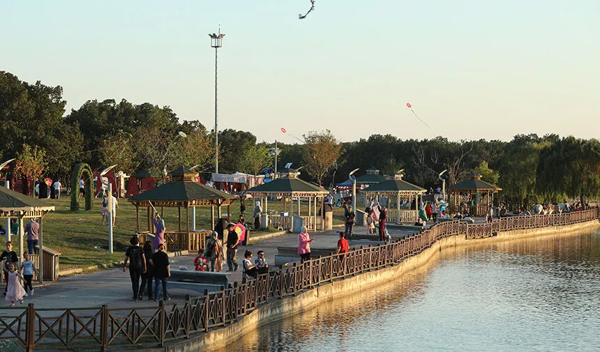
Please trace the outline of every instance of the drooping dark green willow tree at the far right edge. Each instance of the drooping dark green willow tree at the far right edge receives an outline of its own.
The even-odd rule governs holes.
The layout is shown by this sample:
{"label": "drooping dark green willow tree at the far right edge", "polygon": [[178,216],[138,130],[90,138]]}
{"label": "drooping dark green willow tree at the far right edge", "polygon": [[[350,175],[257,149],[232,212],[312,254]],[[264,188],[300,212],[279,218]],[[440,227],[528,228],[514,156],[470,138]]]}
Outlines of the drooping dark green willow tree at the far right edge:
{"label": "drooping dark green willow tree at the far right edge", "polygon": [[540,192],[579,198],[600,195],[600,141],[569,136],[543,148],[537,167]]}

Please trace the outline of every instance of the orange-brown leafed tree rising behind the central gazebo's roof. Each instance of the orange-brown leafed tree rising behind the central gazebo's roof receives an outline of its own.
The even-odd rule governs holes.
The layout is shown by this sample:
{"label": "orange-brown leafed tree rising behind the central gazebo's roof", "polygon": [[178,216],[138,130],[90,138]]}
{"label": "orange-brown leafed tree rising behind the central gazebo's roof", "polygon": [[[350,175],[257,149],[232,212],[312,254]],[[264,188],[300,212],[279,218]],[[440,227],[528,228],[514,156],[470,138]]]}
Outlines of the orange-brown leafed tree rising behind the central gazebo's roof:
{"label": "orange-brown leafed tree rising behind the central gazebo's roof", "polygon": [[304,167],[306,172],[322,185],[323,178],[342,155],[344,146],[333,137],[330,130],[311,131],[303,137],[306,142],[303,153]]}

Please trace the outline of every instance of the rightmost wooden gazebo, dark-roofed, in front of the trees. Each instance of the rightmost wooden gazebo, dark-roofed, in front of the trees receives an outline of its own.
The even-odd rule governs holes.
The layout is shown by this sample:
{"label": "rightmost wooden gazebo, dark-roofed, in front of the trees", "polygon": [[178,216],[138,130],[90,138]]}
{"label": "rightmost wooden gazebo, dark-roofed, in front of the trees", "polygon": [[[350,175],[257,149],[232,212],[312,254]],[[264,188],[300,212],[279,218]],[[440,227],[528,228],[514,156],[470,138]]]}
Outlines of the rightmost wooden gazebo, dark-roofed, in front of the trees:
{"label": "rightmost wooden gazebo, dark-roofed, in front of the trees", "polygon": [[485,216],[488,207],[493,205],[494,196],[502,188],[481,181],[481,175],[471,174],[462,182],[449,188],[450,211],[468,211],[470,215]]}

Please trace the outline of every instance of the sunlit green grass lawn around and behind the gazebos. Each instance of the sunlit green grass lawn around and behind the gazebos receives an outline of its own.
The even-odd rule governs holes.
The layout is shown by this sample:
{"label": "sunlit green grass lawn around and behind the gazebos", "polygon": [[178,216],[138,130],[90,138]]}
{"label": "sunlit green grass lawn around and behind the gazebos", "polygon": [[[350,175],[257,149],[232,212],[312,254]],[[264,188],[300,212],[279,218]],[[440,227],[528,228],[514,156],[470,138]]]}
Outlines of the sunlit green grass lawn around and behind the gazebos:
{"label": "sunlit green grass lawn around and behind the gazebos", "polygon": [[[44,217],[44,247],[61,252],[61,270],[113,263],[124,259],[125,250],[129,246],[129,239],[135,234],[135,206],[130,204],[127,199],[119,201],[117,221],[113,229],[114,254],[112,255],[108,254],[107,251],[108,227],[101,224],[100,199],[94,199],[96,203],[91,211],[70,211],[69,197],[61,197],[59,200],[45,199],[45,201],[54,205],[56,211],[50,212]],[[246,202],[248,207],[246,217],[251,217],[252,204],[250,201]],[[81,206],[84,206],[83,199],[81,199]],[[269,201],[268,208],[269,210],[281,211],[283,205],[280,201]],[[223,213],[227,212],[227,207],[221,209]],[[289,202],[286,210],[290,210]],[[231,219],[237,220],[239,217],[239,203],[232,205],[231,211]],[[185,217],[183,210],[181,213]],[[269,213],[271,212],[269,211]],[[307,204],[301,205],[301,213],[302,215],[308,215]],[[140,209],[140,230],[142,231],[145,229],[146,224],[145,215],[145,208]],[[343,224],[343,208],[336,208],[333,212],[333,218],[334,224]],[[177,208],[165,208],[164,219],[167,231],[177,228]],[[209,229],[210,221],[210,208],[196,208],[197,229]],[[185,220],[183,220],[182,227],[185,227]],[[260,236],[273,231],[276,230],[253,230],[252,236]],[[96,249],[96,246],[103,250]]]}

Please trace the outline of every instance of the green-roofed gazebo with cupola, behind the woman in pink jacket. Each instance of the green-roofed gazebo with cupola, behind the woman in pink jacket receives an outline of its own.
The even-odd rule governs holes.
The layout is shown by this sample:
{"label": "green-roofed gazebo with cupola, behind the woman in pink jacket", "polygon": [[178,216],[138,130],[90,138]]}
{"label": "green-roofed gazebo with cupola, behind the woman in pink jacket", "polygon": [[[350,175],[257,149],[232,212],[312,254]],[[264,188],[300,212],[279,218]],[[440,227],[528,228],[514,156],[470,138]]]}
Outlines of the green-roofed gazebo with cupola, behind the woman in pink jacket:
{"label": "green-roofed gazebo with cupola, behind the woman in pink jacket", "polygon": [[[317,215],[317,204],[319,206],[323,203],[323,197],[329,194],[327,190],[320,188],[317,185],[302,181],[298,178],[299,171],[294,169],[287,169],[287,172],[280,173],[280,177],[274,179],[269,183],[263,183],[250,190],[246,191],[248,194],[252,194],[253,197],[261,197],[261,202],[264,201],[262,206],[263,213],[267,213],[267,197],[283,197],[283,212],[280,216],[268,217],[267,221],[262,222],[262,227],[282,227],[283,229],[292,229],[292,231],[299,231],[298,224],[294,226],[294,217],[300,218],[302,226],[305,226],[309,230],[322,229],[323,222],[322,217]],[[290,213],[285,212],[286,198],[290,198]],[[296,214],[294,215],[294,198],[296,198]],[[308,214],[301,215],[300,204],[302,199],[308,202]],[[312,209],[311,209],[312,208]]]}

